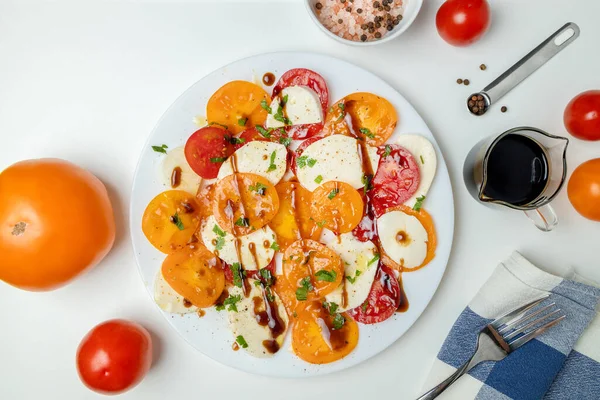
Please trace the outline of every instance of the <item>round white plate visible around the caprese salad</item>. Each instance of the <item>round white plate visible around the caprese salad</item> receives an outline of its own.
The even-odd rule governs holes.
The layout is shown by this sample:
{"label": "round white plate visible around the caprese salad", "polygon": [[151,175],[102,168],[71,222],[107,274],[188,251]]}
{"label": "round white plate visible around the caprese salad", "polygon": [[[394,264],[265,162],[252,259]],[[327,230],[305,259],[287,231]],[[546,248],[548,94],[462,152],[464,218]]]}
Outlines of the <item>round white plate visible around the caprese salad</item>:
{"label": "round white plate visible around the caprese salad", "polygon": [[[184,316],[165,313],[167,321],[193,347],[208,357],[240,370],[270,376],[302,377],[322,375],[351,367],[383,351],[417,320],[435,293],[450,255],[454,230],[452,187],[446,163],[439,152],[435,138],[419,114],[394,88],[377,76],[347,62],[312,53],[271,53],[236,61],[227,65],[185,91],[162,116],[148,142],[137,167],[131,194],[131,238],[144,285],[153,296],[154,277],[165,255],[156,250],[142,233],[142,214],[148,202],[163,190],[158,167],[161,155],[151,145],[167,144],[174,148],[185,143],[198,127],[193,119],[205,115],[209,97],[231,80],[252,80],[265,72],[277,78],[292,68],[309,68],[321,74],[329,87],[330,102],[357,91],[372,92],[388,99],[396,108],[399,124],[394,135],[416,133],[430,139],[438,156],[437,175],[424,208],[433,216],[438,248],[435,259],[425,268],[403,274],[404,289],[410,302],[406,313],[396,313],[389,320],[375,325],[360,325],[360,339],[356,349],[346,358],[325,365],[312,365],[297,358],[291,351],[288,335],[282,349],[272,358],[257,359],[244,351],[233,351],[234,341],[227,327],[226,313],[207,310],[199,318],[196,314]],[[270,90],[267,88],[267,91]],[[390,139],[394,140],[394,136]]]}

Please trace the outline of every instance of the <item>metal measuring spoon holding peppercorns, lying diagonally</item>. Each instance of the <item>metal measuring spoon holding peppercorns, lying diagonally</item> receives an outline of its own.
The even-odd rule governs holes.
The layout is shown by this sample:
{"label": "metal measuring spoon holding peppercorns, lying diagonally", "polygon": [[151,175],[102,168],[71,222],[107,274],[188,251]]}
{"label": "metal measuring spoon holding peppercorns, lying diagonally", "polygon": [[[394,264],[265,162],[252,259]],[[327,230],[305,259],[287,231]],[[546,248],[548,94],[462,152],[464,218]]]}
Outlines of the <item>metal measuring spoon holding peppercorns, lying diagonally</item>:
{"label": "metal measuring spoon holding peppercorns, lying diagonally", "polygon": [[565,24],[482,91],[470,95],[467,99],[468,110],[473,115],[485,114],[492,104],[577,39],[579,33],[577,24],[573,22]]}

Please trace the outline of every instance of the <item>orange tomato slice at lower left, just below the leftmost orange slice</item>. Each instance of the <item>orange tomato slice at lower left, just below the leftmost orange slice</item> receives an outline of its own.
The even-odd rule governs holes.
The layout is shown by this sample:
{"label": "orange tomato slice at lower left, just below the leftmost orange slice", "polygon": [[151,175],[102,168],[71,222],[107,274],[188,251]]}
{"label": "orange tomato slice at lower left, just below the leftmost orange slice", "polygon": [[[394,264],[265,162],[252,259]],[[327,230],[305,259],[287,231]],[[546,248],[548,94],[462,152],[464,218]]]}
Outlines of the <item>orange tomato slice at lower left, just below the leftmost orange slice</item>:
{"label": "orange tomato slice at lower left, just below the leftmost orange slice", "polygon": [[196,307],[214,305],[225,288],[219,258],[202,245],[190,245],[169,254],[161,272],[169,286]]}

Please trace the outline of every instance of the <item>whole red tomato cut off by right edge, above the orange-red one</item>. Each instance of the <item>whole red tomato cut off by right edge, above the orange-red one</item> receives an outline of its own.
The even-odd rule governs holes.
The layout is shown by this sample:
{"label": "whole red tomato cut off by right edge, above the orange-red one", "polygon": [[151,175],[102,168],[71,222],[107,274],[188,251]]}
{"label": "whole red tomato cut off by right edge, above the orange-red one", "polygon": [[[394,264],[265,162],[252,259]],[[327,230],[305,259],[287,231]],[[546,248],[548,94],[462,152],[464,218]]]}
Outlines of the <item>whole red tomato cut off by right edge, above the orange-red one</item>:
{"label": "whole red tomato cut off by right edge, above the orange-red one", "polygon": [[575,96],[565,108],[565,127],[578,139],[600,140],[600,90]]}

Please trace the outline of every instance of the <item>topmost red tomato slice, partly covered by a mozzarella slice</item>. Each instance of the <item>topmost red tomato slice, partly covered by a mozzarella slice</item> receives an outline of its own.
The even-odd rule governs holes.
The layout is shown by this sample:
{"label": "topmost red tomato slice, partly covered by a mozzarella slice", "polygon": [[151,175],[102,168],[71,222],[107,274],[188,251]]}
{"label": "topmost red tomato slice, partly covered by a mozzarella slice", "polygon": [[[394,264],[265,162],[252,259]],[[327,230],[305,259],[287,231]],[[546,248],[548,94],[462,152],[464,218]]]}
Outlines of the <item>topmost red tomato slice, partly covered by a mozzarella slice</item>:
{"label": "topmost red tomato slice, partly covered by a mozzarella slice", "polygon": [[[319,74],[306,68],[290,69],[279,78],[279,81],[273,87],[273,95],[275,98],[284,88],[288,86],[307,86],[315,91],[319,96],[321,107],[323,108],[323,116],[327,115],[327,106],[329,105],[329,89],[325,79]],[[306,139],[312,137],[323,129],[323,123],[294,125],[286,127],[288,135],[292,139]]]}

